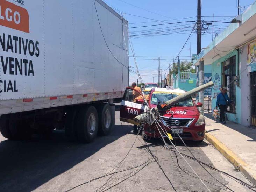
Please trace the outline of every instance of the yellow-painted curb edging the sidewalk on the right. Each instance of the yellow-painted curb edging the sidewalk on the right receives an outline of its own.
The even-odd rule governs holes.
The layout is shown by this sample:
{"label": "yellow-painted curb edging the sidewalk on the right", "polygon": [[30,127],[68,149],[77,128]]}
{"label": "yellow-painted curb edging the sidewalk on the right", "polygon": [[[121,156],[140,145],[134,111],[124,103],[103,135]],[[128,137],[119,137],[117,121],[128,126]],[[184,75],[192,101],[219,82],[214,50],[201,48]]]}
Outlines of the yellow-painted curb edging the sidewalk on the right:
{"label": "yellow-painted curb edging the sidewalk on the right", "polygon": [[205,133],[205,139],[211,143],[235,168],[241,171],[251,183],[256,186],[256,175],[250,173],[249,166],[246,162],[244,162],[239,156],[234,154],[232,150],[230,150],[226,145],[221,143],[216,137],[209,133]]}

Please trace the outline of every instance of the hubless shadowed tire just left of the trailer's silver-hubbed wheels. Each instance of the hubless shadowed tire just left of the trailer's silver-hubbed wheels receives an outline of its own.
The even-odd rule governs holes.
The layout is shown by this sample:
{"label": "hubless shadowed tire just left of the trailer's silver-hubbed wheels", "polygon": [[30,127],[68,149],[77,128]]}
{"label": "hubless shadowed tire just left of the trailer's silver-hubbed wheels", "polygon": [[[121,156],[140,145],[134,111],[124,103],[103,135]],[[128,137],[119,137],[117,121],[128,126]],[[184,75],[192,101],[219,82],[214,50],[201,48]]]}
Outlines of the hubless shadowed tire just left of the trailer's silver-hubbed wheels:
{"label": "hubless shadowed tire just left of the trailer's silver-hubbed wheels", "polygon": [[64,122],[64,129],[65,129],[65,136],[69,141],[76,141],[77,134],[75,128],[75,118],[76,118],[76,107],[69,107],[66,110],[65,114],[65,122]]}

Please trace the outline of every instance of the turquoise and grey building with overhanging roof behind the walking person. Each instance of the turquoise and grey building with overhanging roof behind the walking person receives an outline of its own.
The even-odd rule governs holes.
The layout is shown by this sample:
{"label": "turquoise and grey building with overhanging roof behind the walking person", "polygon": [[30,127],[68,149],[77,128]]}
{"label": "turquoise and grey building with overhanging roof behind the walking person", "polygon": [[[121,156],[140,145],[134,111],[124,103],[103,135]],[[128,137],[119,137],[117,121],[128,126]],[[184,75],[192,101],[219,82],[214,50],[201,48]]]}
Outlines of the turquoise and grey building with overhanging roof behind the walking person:
{"label": "turquoise and grey building with overhanging roof behind the walking person", "polygon": [[228,87],[232,100],[230,121],[256,128],[256,2],[211,42],[198,56],[212,66],[212,110],[220,88]]}

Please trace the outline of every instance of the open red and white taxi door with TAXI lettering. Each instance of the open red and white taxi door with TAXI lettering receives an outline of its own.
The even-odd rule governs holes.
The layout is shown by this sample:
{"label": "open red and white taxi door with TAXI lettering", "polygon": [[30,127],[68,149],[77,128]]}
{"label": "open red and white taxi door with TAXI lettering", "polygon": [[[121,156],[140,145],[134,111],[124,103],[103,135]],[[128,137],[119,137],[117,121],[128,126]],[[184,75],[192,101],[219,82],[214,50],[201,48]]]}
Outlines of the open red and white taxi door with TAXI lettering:
{"label": "open red and white taxi door with TAXI lettering", "polygon": [[120,106],[120,121],[138,125],[133,118],[142,114],[148,109],[144,102],[143,96],[133,98],[133,91],[138,92],[133,88],[126,88]]}

